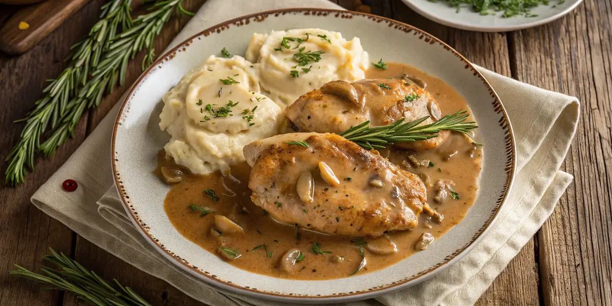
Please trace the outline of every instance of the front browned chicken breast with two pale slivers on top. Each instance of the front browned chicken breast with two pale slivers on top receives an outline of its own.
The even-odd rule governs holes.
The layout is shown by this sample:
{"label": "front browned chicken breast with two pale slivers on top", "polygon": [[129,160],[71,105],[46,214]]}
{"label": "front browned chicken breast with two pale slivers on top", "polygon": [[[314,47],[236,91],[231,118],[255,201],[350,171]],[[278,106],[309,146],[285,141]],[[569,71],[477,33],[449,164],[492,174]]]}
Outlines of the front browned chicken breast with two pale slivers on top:
{"label": "front browned chicken breast with two pale slivers on top", "polygon": [[[305,141],[307,146],[289,144]],[[293,133],[244,148],[251,200],[278,222],[321,233],[376,237],[412,230],[431,209],[425,185],[377,154],[325,133]]]}

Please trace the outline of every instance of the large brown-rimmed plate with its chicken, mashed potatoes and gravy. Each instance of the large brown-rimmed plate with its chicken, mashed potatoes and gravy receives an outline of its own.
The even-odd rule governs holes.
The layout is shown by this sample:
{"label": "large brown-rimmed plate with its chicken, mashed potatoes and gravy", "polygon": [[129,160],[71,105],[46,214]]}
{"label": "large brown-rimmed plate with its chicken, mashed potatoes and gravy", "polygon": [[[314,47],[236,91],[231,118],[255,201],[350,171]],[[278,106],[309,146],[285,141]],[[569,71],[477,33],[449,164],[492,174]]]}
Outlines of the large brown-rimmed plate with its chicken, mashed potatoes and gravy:
{"label": "large brown-rimmed plate with its chicken, mashed potatoes and gravy", "polygon": [[487,80],[419,29],[291,9],[227,21],[130,90],[113,169],[136,228],[225,289],[365,299],[465,255],[512,185]]}

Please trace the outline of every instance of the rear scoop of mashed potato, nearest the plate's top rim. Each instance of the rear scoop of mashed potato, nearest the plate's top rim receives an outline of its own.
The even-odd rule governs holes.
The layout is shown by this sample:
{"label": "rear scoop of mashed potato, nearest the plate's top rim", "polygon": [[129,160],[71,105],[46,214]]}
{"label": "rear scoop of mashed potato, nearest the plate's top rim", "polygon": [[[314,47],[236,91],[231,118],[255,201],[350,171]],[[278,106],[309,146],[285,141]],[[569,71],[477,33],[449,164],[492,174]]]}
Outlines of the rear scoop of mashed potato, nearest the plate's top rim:
{"label": "rear scoop of mashed potato, nearest the plate's top rim", "polygon": [[359,38],[323,29],[255,33],[245,58],[258,63],[259,85],[283,108],[329,81],[362,80],[369,64]]}

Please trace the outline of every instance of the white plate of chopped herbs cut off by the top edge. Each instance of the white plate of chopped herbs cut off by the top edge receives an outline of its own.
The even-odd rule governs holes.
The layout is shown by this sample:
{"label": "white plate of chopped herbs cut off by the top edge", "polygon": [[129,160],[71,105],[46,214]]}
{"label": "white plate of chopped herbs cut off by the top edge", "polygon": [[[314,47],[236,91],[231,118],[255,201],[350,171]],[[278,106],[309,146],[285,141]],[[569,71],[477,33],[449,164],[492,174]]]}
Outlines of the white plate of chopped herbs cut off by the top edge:
{"label": "white plate of chopped herbs cut off by the top edge", "polygon": [[[412,10],[431,21],[450,26],[452,28],[479,32],[506,32],[532,28],[565,16],[575,9],[583,0],[565,0],[558,4],[558,0],[550,0],[549,6],[538,6],[531,9],[537,17],[515,16],[502,18],[501,12],[496,15],[482,16],[469,7],[463,7],[459,12],[450,7],[446,1],[439,0],[401,0]],[[553,7],[556,4],[556,7]]]}

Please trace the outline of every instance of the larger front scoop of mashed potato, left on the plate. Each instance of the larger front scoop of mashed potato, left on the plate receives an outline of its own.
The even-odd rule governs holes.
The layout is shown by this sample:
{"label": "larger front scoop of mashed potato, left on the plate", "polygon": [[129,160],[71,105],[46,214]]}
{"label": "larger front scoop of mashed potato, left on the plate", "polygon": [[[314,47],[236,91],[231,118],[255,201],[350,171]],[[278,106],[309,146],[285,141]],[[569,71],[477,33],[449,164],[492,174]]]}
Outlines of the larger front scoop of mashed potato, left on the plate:
{"label": "larger front scoop of mashed potato, left on the plate", "polygon": [[211,56],[163,96],[166,154],[193,173],[243,162],[242,147],[273,136],[281,108],[259,93],[258,71],[241,56]]}

